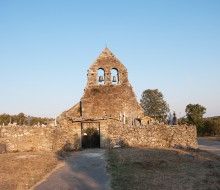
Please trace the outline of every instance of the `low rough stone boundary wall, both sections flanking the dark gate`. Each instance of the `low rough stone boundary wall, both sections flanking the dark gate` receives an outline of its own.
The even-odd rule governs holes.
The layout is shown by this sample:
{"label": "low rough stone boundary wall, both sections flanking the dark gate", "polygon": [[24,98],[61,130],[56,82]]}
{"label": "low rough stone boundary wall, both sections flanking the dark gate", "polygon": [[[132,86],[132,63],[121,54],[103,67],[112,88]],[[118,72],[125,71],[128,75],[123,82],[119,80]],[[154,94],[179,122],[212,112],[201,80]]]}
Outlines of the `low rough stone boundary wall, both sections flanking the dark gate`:
{"label": "low rough stone boundary wall, both sections flanking the dark gate", "polygon": [[[110,122],[111,123],[111,122]],[[195,126],[139,126],[101,122],[101,148],[114,145],[130,147],[198,148]],[[81,124],[66,127],[0,127],[0,153],[23,151],[78,150],[81,148]]]}

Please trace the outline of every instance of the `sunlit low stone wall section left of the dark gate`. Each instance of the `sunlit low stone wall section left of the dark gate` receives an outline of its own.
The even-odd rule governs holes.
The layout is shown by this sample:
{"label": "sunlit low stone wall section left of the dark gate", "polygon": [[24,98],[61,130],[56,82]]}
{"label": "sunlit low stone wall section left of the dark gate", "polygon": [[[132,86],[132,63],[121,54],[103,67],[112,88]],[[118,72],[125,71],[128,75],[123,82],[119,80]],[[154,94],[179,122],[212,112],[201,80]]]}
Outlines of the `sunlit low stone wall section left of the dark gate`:
{"label": "sunlit low stone wall section left of the dark gate", "polygon": [[23,151],[59,151],[80,148],[81,130],[71,127],[0,127],[0,153]]}

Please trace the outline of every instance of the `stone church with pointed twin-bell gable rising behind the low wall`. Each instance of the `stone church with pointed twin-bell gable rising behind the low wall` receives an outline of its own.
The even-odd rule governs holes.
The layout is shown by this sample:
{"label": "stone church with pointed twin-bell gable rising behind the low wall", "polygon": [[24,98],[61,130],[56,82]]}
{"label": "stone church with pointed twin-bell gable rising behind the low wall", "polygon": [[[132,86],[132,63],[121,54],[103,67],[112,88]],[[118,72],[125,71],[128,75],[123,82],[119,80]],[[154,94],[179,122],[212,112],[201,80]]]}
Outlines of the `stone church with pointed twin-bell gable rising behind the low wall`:
{"label": "stone church with pointed twin-bell gable rising behind the low wall", "polygon": [[[106,128],[113,123],[134,125],[144,112],[139,105],[126,67],[105,48],[88,70],[88,82],[79,103],[62,113],[60,125],[78,124],[83,130],[95,128],[101,147],[107,139]],[[87,135],[87,134],[86,134]]]}

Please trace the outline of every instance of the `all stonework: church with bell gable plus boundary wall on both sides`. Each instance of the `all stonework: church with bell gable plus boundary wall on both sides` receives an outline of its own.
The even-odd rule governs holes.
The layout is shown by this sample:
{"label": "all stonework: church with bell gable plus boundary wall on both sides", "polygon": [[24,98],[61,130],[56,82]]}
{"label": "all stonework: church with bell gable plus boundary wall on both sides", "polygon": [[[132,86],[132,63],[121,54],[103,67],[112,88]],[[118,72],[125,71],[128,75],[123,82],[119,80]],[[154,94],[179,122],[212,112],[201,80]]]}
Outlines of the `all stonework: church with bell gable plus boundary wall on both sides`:
{"label": "all stonework: church with bell gable plus boundary wall on both sides", "polygon": [[105,48],[88,70],[88,82],[79,103],[63,112],[56,127],[0,127],[0,153],[77,150],[83,128],[99,129],[100,147],[198,148],[195,126],[145,125],[144,115],[125,66]]}

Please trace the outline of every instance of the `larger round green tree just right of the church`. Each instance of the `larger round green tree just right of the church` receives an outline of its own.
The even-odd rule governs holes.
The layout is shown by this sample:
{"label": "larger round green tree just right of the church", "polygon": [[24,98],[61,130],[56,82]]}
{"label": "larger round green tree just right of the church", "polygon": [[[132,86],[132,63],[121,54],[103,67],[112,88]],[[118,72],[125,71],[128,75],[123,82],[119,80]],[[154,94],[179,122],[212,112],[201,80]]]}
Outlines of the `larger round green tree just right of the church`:
{"label": "larger round green tree just right of the church", "polygon": [[156,118],[159,121],[164,121],[170,111],[169,105],[158,89],[145,90],[141,95],[140,103],[145,115]]}

